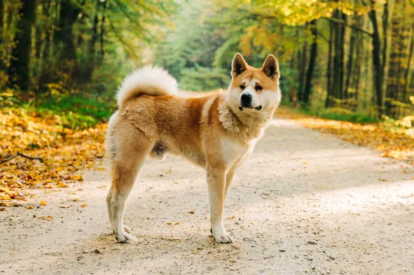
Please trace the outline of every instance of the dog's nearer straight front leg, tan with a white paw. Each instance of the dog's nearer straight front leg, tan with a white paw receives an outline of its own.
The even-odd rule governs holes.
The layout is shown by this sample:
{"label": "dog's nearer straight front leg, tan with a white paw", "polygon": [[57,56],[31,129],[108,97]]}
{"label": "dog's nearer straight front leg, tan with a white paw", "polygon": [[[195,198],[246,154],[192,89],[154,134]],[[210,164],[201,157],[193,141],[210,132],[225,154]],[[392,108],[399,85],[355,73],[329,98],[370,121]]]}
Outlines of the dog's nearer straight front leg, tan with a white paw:
{"label": "dog's nearer straight front leg, tan with a white paw", "polygon": [[233,243],[223,225],[224,200],[226,198],[226,171],[207,168],[208,197],[210,201],[211,231],[217,243]]}

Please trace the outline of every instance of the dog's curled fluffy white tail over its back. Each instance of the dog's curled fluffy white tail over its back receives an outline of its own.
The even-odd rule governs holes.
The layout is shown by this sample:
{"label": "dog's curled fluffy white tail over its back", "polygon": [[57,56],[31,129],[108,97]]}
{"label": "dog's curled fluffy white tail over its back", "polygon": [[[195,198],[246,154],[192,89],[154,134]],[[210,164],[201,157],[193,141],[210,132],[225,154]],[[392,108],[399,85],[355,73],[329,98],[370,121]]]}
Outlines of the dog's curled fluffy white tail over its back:
{"label": "dog's curled fluffy white tail over its back", "polygon": [[177,93],[177,81],[161,67],[146,65],[128,74],[117,92],[118,106],[128,99],[146,94],[162,96]]}

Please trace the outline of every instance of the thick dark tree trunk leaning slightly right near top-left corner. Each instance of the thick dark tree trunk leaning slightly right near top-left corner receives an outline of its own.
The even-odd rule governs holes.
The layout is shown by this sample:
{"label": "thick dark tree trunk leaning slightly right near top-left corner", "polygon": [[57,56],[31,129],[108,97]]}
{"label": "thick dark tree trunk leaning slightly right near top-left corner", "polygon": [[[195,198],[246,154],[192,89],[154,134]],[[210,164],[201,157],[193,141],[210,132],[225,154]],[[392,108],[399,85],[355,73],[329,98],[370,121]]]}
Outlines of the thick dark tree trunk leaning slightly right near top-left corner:
{"label": "thick dark tree trunk leaning slightly right near top-left corner", "polygon": [[32,47],[32,25],[36,10],[36,0],[23,0],[19,10],[21,19],[17,23],[14,37],[16,46],[12,50],[12,60],[8,68],[10,85],[17,85],[23,91],[30,86],[29,65]]}

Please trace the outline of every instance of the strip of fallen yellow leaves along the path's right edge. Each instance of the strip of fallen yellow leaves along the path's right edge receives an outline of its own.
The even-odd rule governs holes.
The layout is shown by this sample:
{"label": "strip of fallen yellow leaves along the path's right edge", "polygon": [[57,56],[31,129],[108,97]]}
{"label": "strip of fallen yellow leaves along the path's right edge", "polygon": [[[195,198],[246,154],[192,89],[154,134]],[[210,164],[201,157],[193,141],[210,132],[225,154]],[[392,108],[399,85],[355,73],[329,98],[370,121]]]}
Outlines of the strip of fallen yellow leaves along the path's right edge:
{"label": "strip of fallen yellow leaves along the path's right edge", "polygon": [[413,161],[414,136],[404,132],[388,131],[383,123],[359,124],[347,121],[333,121],[297,114],[286,108],[279,108],[276,116],[294,119],[306,128],[326,132],[356,145],[371,147],[381,156]]}

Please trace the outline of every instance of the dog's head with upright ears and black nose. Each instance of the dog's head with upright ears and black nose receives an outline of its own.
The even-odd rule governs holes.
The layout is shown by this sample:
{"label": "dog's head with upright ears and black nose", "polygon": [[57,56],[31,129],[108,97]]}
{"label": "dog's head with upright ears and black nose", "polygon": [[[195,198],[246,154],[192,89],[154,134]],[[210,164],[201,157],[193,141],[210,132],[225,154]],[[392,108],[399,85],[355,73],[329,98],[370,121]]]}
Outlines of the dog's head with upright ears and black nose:
{"label": "dog's head with upright ears and black nose", "polygon": [[226,99],[237,112],[258,114],[274,112],[279,105],[279,63],[272,54],[268,55],[262,68],[253,68],[246,63],[242,54],[235,54],[231,64],[232,81]]}

